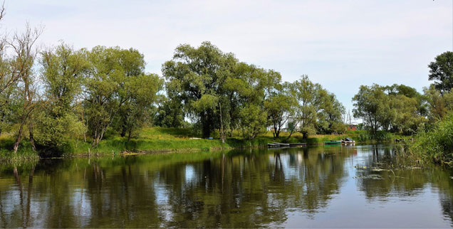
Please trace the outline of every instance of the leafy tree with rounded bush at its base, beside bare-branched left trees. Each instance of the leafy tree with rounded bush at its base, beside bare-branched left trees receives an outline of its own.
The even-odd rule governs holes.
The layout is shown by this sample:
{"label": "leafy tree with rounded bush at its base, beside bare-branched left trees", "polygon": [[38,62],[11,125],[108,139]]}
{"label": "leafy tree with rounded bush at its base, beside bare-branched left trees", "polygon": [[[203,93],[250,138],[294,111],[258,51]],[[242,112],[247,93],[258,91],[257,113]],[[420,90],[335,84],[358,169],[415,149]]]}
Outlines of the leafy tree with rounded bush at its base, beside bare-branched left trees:
{"label": "leafy tree with rounded bush at its base, beside bare-branched left trees", "polygon": [[71,137],[85,132],[80,110],[83,75],[90,67],[83,51],[61,44],[41,52],[44,101],[36,114],[36,142],[45,151],[61,149]]}

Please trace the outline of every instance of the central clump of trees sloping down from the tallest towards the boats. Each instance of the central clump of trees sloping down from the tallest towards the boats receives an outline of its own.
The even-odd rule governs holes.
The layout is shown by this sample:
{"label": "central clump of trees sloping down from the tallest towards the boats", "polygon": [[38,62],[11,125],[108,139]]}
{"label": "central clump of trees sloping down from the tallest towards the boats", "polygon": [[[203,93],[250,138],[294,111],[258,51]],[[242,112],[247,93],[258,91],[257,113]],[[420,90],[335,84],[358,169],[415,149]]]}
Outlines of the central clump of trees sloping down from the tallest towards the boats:
{"label": "central clump of trees sloping down from the tallest towards the boats", "polygon": [[287,125],[304,137],[344,129],[343,105],[307,75],[282,82],[275,70],[241,62],[209,42],[178,46],[162,74],[167,99],[157,112],[157,125],[179,127],[189,117],[202,137],[218,129],[223,141],[234,131],[253,139],[266,127],[274,137]]}

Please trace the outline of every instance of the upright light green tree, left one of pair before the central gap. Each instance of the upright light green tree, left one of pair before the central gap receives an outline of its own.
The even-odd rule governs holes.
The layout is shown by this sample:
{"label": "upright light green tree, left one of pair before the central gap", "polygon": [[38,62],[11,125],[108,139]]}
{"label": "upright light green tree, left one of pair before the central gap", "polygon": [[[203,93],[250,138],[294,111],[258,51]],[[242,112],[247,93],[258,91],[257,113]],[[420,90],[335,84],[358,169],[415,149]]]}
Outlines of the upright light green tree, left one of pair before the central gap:
{"label": "upright light green tree, left one of pair before the central gap", "polygon": [[85,54],[90,63],[83,86],[85,114],[88,129],[93,137],[93,147],[115,120],[120,108],[130,100],[136,88],[131,80],[143,74],[145,60],[134,49],[105,48],[96,46]]}

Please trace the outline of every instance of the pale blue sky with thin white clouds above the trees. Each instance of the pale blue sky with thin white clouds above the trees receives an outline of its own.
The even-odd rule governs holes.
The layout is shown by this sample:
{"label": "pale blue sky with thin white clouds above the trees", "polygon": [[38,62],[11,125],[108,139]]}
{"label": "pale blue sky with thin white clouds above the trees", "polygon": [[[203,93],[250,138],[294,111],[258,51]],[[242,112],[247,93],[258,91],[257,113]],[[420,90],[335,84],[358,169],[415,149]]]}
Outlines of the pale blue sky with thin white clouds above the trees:
{"label": "pale blue sky with thin white clouds above the trees", "polygon": [[1,29],[44,26],[43,47],[120,46],[161,66],[181,43],[210,41],[284,81],[308,75],[346,110],[360,85],[409,85],[422,92],[427,65],[453,49],[452,0],[57,1],[5,0]]}

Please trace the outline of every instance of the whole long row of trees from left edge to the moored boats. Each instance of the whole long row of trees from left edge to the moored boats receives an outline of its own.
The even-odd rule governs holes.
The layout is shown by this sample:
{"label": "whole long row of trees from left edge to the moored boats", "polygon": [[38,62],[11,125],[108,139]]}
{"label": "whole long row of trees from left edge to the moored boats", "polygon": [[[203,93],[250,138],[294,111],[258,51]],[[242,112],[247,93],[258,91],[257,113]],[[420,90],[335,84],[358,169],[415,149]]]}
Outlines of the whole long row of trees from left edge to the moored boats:
{"label": "whole long row of trees from left edge to the moored boats", "polygon": [[145,73],[133,48],[37,48],[41,33],[27,26],[0,43],[0,134],[14,133],[14,152],[24,139],[33,150],[63,150],[71,139],[98,147],[107,132],[129,141],[141,127],[187,120],[204,138],[218,130],[222,141],[269,127],[276,138],[286,126],[304,137],[345,129],[343,105],[308,76],[282,82],[209,42],[177,46],[160,77]]}

